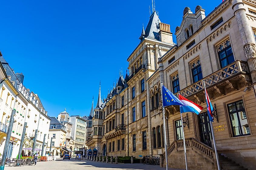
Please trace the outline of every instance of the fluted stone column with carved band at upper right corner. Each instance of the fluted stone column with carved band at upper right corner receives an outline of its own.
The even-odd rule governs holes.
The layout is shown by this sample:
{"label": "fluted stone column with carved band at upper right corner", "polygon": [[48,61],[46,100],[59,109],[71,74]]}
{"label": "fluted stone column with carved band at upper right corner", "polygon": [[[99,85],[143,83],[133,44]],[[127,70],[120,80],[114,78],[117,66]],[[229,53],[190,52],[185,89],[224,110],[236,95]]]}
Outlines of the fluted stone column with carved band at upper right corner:
{"label": "fluted stone column with carved band at upper right corner", "polygon": [[253,32],[246,18],[244,3],[242,0],[229,0],[229,2],[232,4],[232,9],[238,23],[251,79],[253,84],[256,84],[256,45]]}

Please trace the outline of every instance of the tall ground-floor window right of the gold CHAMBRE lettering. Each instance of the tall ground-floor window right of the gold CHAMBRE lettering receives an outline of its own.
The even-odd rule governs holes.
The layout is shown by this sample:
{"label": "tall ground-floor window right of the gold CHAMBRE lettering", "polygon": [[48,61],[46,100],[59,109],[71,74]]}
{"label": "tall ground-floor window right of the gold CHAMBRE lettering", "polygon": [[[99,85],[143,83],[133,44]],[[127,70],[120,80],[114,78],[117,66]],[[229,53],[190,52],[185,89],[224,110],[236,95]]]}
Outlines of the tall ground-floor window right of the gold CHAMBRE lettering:
{"label": "tall ground-floor window right of the gold CHAMBRE lettering", "polygon": [[228,104],[228,112],[230,116],[233,136],[250,135],[251,133],[248,126],[243,101],[240,100]]}

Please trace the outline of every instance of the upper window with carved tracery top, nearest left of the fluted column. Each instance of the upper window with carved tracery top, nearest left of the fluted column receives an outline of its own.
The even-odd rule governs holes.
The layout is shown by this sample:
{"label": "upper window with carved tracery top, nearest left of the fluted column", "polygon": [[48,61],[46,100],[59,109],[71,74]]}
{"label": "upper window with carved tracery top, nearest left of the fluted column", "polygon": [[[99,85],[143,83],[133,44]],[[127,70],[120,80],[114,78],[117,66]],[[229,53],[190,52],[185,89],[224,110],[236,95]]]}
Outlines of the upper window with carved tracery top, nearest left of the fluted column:
{"label": "upper window with carved tracery top, nearest left of the fluted column", "polygon": [[233,51],[231,48],[230,40],[224,41],[224,44],[218,46],[218,55],[221,63],[221,68],[228,66],[234,62]]}

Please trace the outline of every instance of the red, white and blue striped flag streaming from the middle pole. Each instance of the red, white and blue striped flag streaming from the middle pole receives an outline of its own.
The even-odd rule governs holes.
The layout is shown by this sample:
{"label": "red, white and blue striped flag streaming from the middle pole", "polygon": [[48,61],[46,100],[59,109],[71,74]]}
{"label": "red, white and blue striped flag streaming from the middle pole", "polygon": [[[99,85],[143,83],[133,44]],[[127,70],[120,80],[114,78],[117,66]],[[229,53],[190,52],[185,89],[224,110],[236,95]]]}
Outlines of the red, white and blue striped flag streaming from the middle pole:
{"label": "red, white and blue striped flag streaming from the middle pole", "polygon": [[202,107],[198,104],[195,104],[193,101],[190,101],[190,100],[186,99],[182,95],[179,95],[179,99],[185,105],[185,106],[180,107],[181,113],[194,112],[196,114],[199,114],[204,108],[204,107]]}

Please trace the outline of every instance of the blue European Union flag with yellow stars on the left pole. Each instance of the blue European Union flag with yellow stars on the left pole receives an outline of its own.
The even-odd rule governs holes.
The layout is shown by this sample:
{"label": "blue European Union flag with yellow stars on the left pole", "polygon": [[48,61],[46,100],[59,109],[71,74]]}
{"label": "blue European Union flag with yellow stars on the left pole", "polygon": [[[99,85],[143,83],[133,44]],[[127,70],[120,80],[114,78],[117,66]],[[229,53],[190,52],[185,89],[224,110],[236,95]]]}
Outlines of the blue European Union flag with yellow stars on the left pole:
{"label": "blue European Union flag with yellow stars on the left pole", "polygon": [[165,86],[162,87],[162,96],[163,96],[163,107],[170,105],[180,105],[184,106],[184,104]]}

